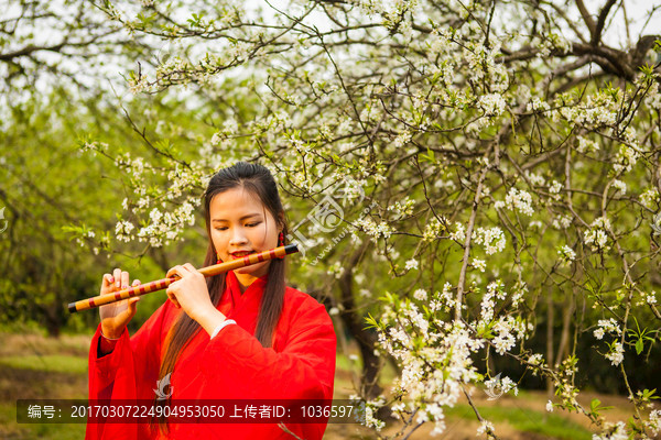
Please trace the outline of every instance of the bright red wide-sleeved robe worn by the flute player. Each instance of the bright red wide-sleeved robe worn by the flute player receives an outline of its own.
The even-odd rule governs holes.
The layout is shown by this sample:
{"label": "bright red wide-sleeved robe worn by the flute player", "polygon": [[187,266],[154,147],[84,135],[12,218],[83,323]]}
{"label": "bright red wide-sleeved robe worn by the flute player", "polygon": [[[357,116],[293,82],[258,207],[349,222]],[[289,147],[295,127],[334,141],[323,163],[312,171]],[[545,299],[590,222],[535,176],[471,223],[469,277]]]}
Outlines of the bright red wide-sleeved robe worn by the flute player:
{"label": "bright red wide-sleeved robe worn by the flute player", "polygon": [[[286,287],[272,348],[253,337],[267,276],[243,294],[234,272],[218,305],[228,324],[213,339],[202,329],[183,349],[174,372],[173,399],[332,399],[336,338],[323,305]],[[89,399],[155,397],[164,339],[183,312],[165,301],[129,338],[124,331],[112,352],[99,358],[100,324],[89,350]],[[107,343],[107,341],[104,341]],[[297,437],[321,439],[326,424],[288,425]],[[88,424],[86,440],[155,439],[147,424]],[[275,424],[170,424],[173,439],[293,439]]]}

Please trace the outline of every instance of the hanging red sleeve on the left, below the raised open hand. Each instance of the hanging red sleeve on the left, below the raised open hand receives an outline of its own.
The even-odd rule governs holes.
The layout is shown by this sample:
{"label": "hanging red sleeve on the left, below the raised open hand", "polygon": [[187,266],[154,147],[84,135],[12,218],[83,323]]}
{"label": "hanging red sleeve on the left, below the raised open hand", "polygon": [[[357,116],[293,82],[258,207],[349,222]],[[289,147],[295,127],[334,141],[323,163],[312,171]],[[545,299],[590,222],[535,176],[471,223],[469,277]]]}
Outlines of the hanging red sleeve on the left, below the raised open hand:
{"label": "hanging red sleeve on the left, below the raised open hand", "polygon": [[[161,306],[136,334],[121,334],[112,352],[99,358],[101,326],[97,328],[89,349],[89,399],[148,399],[153,391],[160,367],[161,332],[167,308]],[[86,440],[136,439],[134,424],[87,424]]]}

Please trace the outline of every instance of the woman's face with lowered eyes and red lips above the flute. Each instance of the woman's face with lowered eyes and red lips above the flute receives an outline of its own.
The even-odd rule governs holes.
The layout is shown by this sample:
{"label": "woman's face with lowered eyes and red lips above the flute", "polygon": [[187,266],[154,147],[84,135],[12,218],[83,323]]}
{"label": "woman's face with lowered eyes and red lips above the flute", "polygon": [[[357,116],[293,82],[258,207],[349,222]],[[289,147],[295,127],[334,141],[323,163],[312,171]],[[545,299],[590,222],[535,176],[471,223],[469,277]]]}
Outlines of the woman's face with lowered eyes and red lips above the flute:
{"label": "woman's face with lowered eyes and red lips above the flute", "polygon": [[[217,194],[209,206],[212,241],[224,262],[278,246],[278,227],[258,196],[243,187]],[[235,270],[242,285],[269,272],[270,261]]]}

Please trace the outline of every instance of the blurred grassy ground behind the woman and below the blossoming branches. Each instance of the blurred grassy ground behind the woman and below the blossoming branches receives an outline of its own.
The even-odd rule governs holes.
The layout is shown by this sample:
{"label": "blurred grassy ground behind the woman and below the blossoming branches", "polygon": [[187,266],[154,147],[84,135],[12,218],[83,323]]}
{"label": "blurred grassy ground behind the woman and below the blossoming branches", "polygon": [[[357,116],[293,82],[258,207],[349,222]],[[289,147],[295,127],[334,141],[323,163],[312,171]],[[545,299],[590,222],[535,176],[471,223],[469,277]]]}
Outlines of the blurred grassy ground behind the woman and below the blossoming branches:
{"label": "blurred grassy ground behind the woman and below the blossoming branches", "polygon": [[[86,398],[88,336],[63,336],[50,339],[37,333],[0,333],[0,439],[82,439],[85,425],[25,425],[15,421],[19,398]],[[338,355],[335,398],[354,394],[356,367]],[[592,439],[585,416],[545,410],[548,396],[543,392],[521,392],[518,397],[506,395],[496,400],[478,388],[473,398],[480,414],[494,422],[501,439]],[[579,402],[589,406],[593,398],[614,408],[606,413],[609,420],[626,420],[631,405],[621,396],[583,394]],[[446,430],[437,439],[476,439],[479,427],[467,402],[459,402],[446,413]],[[393,435],[401,424],[389,424],[382,431]],[[433,426],[424,424],[409,439],[427,439]],[[408,432],[408,431],[407,431]],[[370,431],[358,425],[329,424],[324,439],[372,439]],[[400,437],[402,438],[402,437]]]}

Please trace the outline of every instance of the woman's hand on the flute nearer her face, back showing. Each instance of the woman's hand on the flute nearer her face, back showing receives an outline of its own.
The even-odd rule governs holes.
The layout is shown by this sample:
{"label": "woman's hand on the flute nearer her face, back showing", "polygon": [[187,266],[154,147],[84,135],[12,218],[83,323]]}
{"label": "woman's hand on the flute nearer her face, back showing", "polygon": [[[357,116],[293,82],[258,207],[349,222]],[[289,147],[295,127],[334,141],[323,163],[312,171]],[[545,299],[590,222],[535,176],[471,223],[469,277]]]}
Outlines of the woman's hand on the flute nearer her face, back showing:
{"label": "woman's hand on the flute nearer her face, back showing", "polygon": [[175,307],[183,308],[186,315],[198,322],[205,314],[216,310],[204,275],[191,263],[167,271],[169,278],[174,275],[178,275],[180,279],[167,287],[167,296]]}

